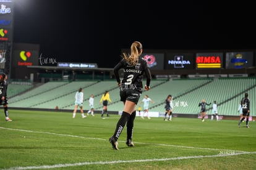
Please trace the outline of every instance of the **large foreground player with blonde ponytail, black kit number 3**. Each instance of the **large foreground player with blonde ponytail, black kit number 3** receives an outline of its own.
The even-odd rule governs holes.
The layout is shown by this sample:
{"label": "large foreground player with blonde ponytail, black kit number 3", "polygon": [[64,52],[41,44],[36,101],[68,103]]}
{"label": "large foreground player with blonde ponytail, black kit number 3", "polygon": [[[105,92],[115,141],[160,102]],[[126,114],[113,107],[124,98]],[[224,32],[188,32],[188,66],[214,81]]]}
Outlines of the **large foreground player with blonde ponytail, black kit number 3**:
{"label": "large foreground player with blonde ponytail, black kit number 3", "polygon": [[[147,83],[145,84],[145,91],[150,89],[151,73],[148,68],[148,63],[145,59],[140,57],[142,54],[142,44],[139,41],[134,41],[130,46],[130,54],[122,53],[123,59],[114,67],[114,75],[116,76],[117,85],[120,88],[120,100],[124,102],[124,110],[121,118],[116,124],[116,129],[109,142],[112,147],[118,150],[117,139],[121,135],[124,126],[127,123],[127,141],[129,147],[134,147],[132,142],[132,132],[134,127],[134,119],[136,116],[136,105],[139,102],[140,95],[143,90],[143,74],[145,73]],[[122,69],[124,78],[122,81],[119,78],[119,70]]]}

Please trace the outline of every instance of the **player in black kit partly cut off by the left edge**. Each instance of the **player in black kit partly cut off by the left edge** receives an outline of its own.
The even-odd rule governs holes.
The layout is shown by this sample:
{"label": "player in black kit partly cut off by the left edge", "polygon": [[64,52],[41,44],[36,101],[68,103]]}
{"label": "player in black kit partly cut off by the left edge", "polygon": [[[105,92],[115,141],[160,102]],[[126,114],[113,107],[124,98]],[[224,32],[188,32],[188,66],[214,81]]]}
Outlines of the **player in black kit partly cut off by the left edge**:
{"label": "player in black kit partly cut off by the left edge", "polygon": [[8,98],[7,98],[7,75],[1,73],[0,75],[0,105],[4,106],[4,115],[6,115],[6,121],[12,121],[9,118],[8,113]]}

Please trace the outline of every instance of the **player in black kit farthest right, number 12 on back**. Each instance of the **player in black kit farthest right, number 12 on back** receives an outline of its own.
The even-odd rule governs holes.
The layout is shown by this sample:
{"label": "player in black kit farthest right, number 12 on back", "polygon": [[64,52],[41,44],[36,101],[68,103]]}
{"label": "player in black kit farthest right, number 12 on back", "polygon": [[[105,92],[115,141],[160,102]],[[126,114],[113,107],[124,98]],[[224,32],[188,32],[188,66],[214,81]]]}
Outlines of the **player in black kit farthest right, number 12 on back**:
{"label": "player in black kit farthest right, number 12 on back", "polygon": [[238,126],[241,126],[242,121],[246,118],[246,127],[249,128],[249,116],[250,116],[250,99],[248,93],[245,92],[244,97],[241,100],[242,118],[239,120]]}

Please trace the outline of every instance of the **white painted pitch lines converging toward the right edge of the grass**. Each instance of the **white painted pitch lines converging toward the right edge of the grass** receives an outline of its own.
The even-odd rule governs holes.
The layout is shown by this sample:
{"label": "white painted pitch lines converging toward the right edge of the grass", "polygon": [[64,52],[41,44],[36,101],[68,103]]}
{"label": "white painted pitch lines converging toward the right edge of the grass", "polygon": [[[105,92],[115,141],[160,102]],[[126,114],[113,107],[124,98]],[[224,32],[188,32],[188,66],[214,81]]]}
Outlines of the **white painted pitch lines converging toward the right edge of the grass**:
{"label": "white painted pitch lines converging toward the right edge of the grass", "polygon": [[[56,134],[56,133],[52,133],[52,132],[28,131],[28,130],[23,130],[23,129],[12,129],[12,128],[6,128],[6,127],[0,127],[0,129],[6,129],[6,130],[11,130],[11,131],[23,131],[23,132],[50,134],[50,135],[56,135],[56,136],[78,137],[78,138],[82,138],[82,139],[106,140],[106,139],[93,138],[93,137],[82,137],[82,136],[73,136],[73,135],[67,135],[67,134]],[[147,143],[137,142],[137,144],[147,144]],[[204,150],[221,150],[221,151],[224,151],[223,149],[217,149],[217,148],[185,147],[185,146],[180,146],[180,145],[167,145],[167,144],[150,144],[150,145],[161,145],[161,146],[169,146],[169,147],[195,148],[195,149],[204,149]],[[72,163],[72,164],[68,163],[68,164],[55,164],[55,165],[42,165],[42,166],[12,167],[12,168],[5,169],[5,170],[66,168],[66,167],[72,167],[72,166],[83,166],[83,165],[92,165],[92,164],[140,163],[140,162],[152,162],[152,161],[187,160],[187,159],[195,159],[195,158],[213,158],[213,157],[225,157],[225,156],[244,155],[244,154],[256,154],[256,152],[243,152],[243,151],[237,151],[237,150],[226,150],[226,151],[234,151],[234,152],[237,152],[237,153],[232,152],[232,154],[218,154],[218,155],[204,155],[204,156],[201,156],[201,155],[198,155],[198,156],[181,156],[181,157],[177,157],[177,158],[161,158],[161,159],[156,159],[155,158],[155,159],[127,160],[127,161],[121,161],[121,160],[118,160],[118,161],[98,161],[98,162],[84,162],[84,163]]]}

